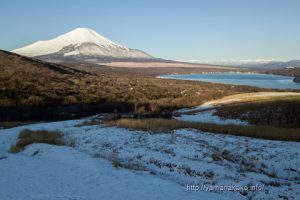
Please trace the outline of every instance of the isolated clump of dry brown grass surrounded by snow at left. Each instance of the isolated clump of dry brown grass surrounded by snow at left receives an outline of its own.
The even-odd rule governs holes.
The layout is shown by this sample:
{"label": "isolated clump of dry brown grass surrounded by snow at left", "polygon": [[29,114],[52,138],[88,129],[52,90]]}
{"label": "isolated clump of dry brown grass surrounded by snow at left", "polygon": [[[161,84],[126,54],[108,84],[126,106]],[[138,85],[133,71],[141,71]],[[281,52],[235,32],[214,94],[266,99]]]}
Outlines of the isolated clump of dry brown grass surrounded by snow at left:
{"label": "isolated clump of dry brown grass surrounded by snow at left", "polygon": [[32,131],[24,129],[20,132],[18,141],[15,145],[11,146],[10,152],[18,153],[23,151],[27,145],[33,143],[47,143],[54,145],[62,145],[61,133],[58,131],[47,131],[47,130],[37,130]]}

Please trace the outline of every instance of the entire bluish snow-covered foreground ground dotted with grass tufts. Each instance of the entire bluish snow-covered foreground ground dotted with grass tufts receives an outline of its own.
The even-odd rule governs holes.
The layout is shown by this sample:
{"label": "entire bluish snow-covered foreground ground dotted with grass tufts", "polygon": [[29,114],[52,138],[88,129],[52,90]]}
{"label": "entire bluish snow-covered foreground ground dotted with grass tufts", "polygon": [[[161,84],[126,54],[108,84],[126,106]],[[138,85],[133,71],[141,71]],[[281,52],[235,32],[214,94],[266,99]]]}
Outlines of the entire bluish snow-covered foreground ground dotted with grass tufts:
{"label": "entire bluish snow-covered foreground ground dotted with grass tufts", "polygon": [[[300,198],[297,142],[192,129],[150,134],[83,123],[89,120],[0,130],[0,199]],[[24,128],[60,130],[70,146],[33,144],[8,153]],[[261,191],[188,191],[203,185]]]}

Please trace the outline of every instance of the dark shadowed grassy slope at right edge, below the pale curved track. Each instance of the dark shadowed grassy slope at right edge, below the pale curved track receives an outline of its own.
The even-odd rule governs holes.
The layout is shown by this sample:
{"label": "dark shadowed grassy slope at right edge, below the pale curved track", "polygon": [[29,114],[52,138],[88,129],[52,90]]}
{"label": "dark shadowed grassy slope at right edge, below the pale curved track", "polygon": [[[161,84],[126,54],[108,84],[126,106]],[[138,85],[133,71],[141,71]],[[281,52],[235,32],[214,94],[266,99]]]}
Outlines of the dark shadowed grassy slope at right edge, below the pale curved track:
{"label": "dark shadowed grassy slope at right edge, below the pale curved track", "polygon": [[216,115],[239,118],[252,124],[300,128],[300,97],[289,96],[224,105]]}

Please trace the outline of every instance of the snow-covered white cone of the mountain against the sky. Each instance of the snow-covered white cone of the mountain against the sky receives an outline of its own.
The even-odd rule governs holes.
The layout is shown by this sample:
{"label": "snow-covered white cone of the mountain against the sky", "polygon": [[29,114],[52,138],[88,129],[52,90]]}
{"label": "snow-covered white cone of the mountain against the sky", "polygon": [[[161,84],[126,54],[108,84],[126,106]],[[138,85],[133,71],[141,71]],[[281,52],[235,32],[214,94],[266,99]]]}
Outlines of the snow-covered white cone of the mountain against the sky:
{"label": "snow-covered white cone of the mountain against the sky", "polygon": [[54,39],[38,41],[12,52],[47,61],[153,60],[149,54],[117,44],[96,31],[76,28]]}

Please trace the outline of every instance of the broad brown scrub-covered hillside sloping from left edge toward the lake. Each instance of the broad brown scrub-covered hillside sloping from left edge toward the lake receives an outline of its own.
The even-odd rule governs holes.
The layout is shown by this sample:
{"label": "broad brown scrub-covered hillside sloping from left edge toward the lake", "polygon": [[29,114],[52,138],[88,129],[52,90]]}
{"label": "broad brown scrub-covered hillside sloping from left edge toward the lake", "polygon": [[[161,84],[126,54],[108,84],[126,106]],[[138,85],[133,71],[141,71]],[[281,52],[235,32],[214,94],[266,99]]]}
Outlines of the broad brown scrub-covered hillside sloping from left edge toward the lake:
{"label": "broad brown scrub-covered hillside sloping from left edge toward the lake", "polygon": [[[60,115],[78,117],[74,112],[87,112],[86,115],[111,111],[159,112],[231,94],[264,91],[247,86],[163,80],[141,75],[141,71],[132,74],[132,69],[93,67],[50,64],[0,51],[0,121],[16,116],[22,120],[24,113],[29,113],[26,119],[30,120],[34,118],[31,112],[39,112],[35,115],[38,119],[54,111],[59,113],[52,119]],[[87,108],[90,104],[94,107]],[[54,107],[47,110],[49,106]]]}

